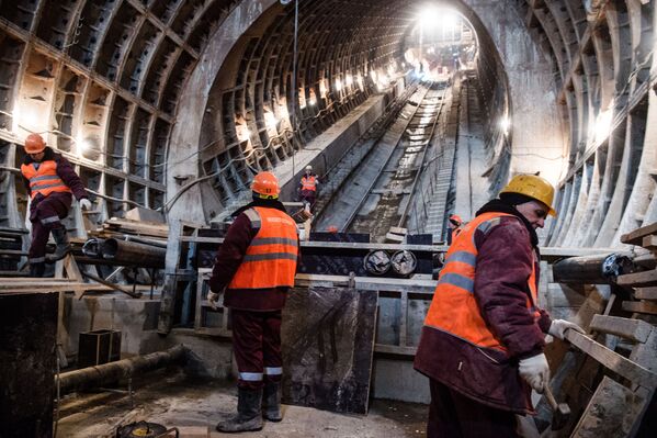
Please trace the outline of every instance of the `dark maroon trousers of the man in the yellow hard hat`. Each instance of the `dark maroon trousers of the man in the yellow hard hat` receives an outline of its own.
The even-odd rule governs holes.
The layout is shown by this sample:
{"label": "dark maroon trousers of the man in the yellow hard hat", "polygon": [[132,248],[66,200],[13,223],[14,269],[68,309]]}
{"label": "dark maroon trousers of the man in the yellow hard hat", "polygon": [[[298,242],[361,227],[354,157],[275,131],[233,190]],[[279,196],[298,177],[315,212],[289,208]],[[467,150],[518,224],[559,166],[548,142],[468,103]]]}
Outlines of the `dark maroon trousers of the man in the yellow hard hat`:
{"label": "dark maroon trousers of the man in the yellow hard hat", "polygon": [[430,379],[427,438],[520,438],[516,414],[478,403]]}

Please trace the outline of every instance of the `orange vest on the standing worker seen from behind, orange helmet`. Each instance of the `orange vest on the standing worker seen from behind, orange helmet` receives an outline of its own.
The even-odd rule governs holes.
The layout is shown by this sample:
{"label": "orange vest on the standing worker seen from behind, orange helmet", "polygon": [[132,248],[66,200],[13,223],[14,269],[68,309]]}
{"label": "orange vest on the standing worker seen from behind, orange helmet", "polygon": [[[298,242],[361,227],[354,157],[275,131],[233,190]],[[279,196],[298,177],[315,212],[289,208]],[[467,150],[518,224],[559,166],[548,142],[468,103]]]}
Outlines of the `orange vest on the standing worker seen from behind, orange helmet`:
{"label": "orange vest on the standing worker seen from behind, orange helmet", "polygon": [[253,206],[245,210],[245,214],[251,226],[260,229],[247,248],[228,289],[292,288],[298,256],[296,223],[275,209]]}

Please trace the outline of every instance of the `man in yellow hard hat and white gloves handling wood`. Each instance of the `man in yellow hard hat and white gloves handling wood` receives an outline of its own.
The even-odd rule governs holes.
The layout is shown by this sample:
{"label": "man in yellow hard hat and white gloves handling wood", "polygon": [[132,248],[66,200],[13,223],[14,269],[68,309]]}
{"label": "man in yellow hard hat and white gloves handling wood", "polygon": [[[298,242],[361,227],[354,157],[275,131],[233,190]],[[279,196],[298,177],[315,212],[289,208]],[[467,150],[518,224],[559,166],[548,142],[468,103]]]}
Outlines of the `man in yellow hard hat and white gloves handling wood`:
{"label": "man in yellow hard hat and white gloves handling wood", "polygon": [[518,437],[516,414],[533,414],[550,368],[545,334],[584,330],[537,308],[539,237],[554,188],[517,176],[485,204],[448,251],[415,368],[429,377],[427,436]]}

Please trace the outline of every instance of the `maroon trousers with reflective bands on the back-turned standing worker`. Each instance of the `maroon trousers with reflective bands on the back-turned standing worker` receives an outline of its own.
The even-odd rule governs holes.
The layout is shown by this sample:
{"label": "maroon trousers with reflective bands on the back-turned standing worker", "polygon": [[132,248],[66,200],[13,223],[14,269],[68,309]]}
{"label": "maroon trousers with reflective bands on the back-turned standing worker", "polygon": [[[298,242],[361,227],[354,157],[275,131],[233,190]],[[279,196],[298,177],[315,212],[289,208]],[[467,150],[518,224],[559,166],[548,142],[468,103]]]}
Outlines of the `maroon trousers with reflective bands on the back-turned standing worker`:
{"label": "maroon trousers with reflective bands on the back-turned standing worker", "polygon": [[230,310],[233,316],[233,349],[239,371],[237,385],[258,390],[267,382],[280,382],[283,373],[281,357],[281,311],[250,312]]}

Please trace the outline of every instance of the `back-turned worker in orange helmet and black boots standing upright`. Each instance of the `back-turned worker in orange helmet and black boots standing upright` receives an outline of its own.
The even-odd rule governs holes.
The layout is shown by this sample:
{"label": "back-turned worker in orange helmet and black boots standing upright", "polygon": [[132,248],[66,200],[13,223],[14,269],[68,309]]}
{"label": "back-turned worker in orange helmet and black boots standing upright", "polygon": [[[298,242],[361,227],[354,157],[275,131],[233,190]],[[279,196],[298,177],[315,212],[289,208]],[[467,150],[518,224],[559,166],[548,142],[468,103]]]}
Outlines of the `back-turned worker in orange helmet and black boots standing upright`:
{"label": "back-turned worker in orange helmet and black boots standing upright", "polygon": [[262,416],[282,419],[281,314],[287,290],[294,285],[298,235],[296,223],[279,201],[273,173],[258,173],[251,191],[253,202],[237,212],[226,232],[207,295],[215,306],[225,290],[239,371],[237,415],[217,425],[224,433],[260,430]]}

